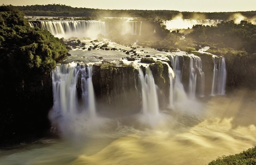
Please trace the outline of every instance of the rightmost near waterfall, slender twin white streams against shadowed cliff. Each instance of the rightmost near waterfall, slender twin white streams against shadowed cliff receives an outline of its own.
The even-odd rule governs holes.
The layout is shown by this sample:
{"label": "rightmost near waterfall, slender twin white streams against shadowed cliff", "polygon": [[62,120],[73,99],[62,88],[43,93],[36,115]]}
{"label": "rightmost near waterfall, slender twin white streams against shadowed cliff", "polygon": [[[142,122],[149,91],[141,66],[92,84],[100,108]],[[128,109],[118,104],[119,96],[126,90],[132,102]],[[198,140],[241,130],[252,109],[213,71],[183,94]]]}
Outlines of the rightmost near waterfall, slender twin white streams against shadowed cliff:
{"label": "rightmost near waterfall, slender twin white streams against shadowed cliff", "polygon": [[225,58],[221,57],[219,60],[219,67],[217,69],[216,58],[213,60],[214,69],[213,69],[213,77],[212,77],[212,92],[211,95],[225,95],[226,89],[226,63]]}

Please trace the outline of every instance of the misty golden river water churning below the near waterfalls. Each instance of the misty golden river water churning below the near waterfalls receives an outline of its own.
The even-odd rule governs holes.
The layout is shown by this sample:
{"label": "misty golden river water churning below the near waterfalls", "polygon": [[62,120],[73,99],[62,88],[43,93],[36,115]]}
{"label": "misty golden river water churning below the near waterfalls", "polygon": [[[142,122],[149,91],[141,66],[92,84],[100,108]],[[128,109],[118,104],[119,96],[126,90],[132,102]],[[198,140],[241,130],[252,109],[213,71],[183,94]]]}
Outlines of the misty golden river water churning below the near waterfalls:
{"label": "misty golden river water churning below the near waterfalls", "polygon": [[160,110],[155,120],[82,120],[72,126],[80,131],[63,132],[63,140],[2,149],[0,164],[205,164],[256,145],[255,106],[255,97],[240,92]]}

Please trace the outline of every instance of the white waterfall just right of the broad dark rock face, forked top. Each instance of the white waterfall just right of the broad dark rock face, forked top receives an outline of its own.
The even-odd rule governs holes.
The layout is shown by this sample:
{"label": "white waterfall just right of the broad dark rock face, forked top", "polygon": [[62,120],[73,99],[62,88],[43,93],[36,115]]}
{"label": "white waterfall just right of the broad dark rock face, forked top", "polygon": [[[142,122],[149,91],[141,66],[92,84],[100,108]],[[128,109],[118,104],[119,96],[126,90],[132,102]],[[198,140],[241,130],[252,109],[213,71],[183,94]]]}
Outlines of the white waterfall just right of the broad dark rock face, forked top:
{"label": "white waterfall just right of the broad dark rock face, forked top", "polygon": [[142,97],[142,113],[154,114],[159,113],[158,97],[156,93],[156,85],[149,66],[146,66],[146,74],[139,68],[139,79]]}

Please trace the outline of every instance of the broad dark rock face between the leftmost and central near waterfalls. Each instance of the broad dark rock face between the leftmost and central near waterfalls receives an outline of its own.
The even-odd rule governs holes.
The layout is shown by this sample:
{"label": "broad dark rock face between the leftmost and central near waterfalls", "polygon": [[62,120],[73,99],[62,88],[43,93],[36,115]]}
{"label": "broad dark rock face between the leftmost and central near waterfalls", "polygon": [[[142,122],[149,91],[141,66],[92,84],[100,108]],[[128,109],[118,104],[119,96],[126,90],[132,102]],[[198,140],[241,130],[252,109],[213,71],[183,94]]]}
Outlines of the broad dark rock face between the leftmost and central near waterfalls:
{"label": "broad dark rock face between the leftmost and central near waterfalls", "polygon": [[136,88],[139,85],[138,70],[132,65],[95,64],[92,83],[100,109],[139,109],[140,97]]}

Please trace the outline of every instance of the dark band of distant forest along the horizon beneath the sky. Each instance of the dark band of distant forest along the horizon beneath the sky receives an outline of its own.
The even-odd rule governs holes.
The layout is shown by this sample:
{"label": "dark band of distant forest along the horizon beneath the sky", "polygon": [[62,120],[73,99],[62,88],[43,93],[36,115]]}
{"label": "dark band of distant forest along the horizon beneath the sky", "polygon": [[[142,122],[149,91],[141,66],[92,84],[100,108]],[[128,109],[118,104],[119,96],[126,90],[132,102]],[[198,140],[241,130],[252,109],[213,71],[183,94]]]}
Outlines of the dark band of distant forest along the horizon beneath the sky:
{"label": "dark band of distant forest along the horizon beneath the sky", "polygon": [[[20,11],[28,16],[66,16],[66,17],[142,17],[142,18],[156,18],[167,20],[172,19],[179,13],[183,15],[184,19],[201,18],[201,19],[222,19],[227,20],[235,12],[180,12],[172,10],[102,10],[90,8],[73,8],[71,6],[61,4],[47,4],[47,5],[27,5],[17,6]],[[245,17],[253,17],[256,11],[240,12]]]}

